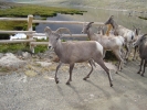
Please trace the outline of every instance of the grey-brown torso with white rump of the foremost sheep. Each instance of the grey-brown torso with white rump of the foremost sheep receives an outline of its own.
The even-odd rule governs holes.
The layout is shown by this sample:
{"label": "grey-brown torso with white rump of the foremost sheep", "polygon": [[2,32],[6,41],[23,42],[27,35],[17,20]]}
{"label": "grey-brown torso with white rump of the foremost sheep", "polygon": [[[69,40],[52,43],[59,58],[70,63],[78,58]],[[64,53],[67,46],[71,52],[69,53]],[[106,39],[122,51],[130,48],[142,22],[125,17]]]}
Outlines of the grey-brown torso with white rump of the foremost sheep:
{"label": "grey-brown torso with white rump of the foremost sheep", "polygon": [[62,43],[63,63],[81,63],[103,55],[103,46],[96,41],[78,41]]}

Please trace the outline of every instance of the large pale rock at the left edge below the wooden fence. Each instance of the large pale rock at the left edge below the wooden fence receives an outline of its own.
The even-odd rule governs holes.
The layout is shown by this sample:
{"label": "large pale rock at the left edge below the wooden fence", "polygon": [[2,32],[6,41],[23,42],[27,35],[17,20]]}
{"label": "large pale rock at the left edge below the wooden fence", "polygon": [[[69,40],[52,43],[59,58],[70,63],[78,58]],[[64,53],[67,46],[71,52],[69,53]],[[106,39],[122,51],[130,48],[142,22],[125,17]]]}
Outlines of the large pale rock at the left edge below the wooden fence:
{"label": "large pale rock at the left edge below the wooden fence", "polygon": [[23,67],[25,64],[25,61],[17,58],[17,56],[14,56],[11,53],[7,53],[4,56],[0,58],[0,67],[7,69],[18,69],[20,67]]}

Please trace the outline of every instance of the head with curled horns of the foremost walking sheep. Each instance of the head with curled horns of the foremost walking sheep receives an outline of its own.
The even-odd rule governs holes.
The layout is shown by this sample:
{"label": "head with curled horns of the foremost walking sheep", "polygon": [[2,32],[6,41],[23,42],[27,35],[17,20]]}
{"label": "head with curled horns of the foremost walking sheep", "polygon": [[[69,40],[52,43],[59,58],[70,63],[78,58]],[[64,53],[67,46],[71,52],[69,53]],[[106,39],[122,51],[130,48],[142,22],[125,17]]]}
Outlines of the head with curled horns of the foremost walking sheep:
{"label": "head with curled horns of the foremost walking sheep", "polygon": [[66,28],[59,28],[56,31],[52,31],[49,26],[46,26],[44,29],[44,32],[45,32],[46,36],[49,37],[49,47],[50,48],[56,47],[56,43],[59,42],[62,33],[67,32],[72,36],[70,30]]}

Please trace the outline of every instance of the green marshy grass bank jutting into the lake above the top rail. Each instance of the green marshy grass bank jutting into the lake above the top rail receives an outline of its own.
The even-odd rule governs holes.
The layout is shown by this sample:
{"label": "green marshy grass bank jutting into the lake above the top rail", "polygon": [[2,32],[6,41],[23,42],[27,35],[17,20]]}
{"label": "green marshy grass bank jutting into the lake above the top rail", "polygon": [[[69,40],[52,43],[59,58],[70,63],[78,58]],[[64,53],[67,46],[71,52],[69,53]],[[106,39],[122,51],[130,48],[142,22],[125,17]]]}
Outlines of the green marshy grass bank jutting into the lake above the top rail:
{"label": "green marshy grass bank jutting into the lake above the top rail", "polygon": [[83,11],[67,8],[44,7],[36,4],[18,4],[11,6],[6,10],[0,10],[0,16],[20,16],[27,18],[28,14],[40,16],[54,16],[56,13],[82,14]]}

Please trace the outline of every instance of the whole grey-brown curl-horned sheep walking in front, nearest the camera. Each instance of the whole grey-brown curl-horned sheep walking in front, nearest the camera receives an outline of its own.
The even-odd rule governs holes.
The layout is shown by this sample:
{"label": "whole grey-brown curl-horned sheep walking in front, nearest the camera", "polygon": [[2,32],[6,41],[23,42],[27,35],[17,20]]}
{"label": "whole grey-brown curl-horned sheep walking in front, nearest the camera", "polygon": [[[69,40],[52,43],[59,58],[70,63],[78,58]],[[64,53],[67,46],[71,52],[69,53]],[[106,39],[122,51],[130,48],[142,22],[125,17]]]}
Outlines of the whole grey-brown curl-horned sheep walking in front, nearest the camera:
{"label": "whole grey-brown curl-horned sheep walking in front, nearest the camera", "polygon": [[55,32],[52,31],[49,26],[44,29],[44,32],[46,36],[49,37],[49,43],[51,44],[51,47],[54,48],[54,52],[60,58],[60,64],[56,67],[55,72],[55,82],[59,82],[57,78],[57,70],[61,67],[62,63],[70,64],[70,78],[66,82],[66,85],[70,85],[70,81],[72,81],[72,70],[75,63],[82,63],[88,61],[90,65],[92,66],[92,69],[90,74],[83,78],[86,80],[90,78],[91,73],[93,72],[93,61],[96,62],[108,75],[109,85],[112,84],[112,76],[109,73],[109,69],[105,66],[103,61],[103,46],[95,41],[78,41],[78,42],[61,42],[61,33],[62,32],[70,32],[69,29],[60,28]]}

